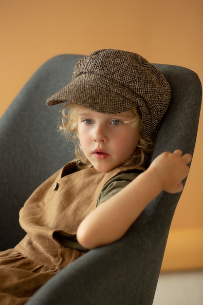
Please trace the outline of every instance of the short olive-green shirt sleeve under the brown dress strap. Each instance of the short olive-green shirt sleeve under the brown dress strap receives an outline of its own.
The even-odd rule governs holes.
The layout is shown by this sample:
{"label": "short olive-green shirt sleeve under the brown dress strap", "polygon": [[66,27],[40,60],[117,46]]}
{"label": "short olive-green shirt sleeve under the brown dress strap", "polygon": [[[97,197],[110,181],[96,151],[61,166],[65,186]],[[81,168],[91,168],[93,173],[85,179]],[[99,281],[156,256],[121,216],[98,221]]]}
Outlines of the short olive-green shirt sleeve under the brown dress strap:
{"label": "short olive-green shirt sleeve under the brown dress strap", "polygon": [[99,193],[97,206],[107,199],[111,198],[118,191],[121,191],[127,186],[133,179],[135,179],[140,172],[122,172],[117,176],[111,178],[102,188]]}

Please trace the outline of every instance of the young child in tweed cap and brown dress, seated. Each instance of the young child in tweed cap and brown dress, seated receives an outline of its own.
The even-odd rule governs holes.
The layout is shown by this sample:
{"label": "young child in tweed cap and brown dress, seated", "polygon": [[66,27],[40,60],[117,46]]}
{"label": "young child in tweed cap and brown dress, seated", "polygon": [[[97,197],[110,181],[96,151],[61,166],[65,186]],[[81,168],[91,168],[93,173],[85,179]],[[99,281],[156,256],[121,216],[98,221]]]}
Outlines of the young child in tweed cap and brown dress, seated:
{"label": "young child in tweed cap and brown dress, seated", "polygon": [[0,304],[24,304],[89,249],[122,237],[161,191],[183,190],[190,154],[164,152],[148,166],[169,101],[166,78],[137,54],[105,49],[78,61],[72,82],[47,100],[67,103],[60,129],[76,158],[20,210],[27,234],[0,253]]}

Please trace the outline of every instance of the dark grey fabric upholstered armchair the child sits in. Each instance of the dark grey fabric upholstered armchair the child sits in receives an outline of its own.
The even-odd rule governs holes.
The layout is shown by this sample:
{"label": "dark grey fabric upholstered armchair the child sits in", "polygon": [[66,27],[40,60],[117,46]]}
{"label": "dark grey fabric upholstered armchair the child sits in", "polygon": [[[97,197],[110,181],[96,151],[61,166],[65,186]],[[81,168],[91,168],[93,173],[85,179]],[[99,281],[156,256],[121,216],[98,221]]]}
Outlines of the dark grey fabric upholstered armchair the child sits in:
{"label": "dark grey fabric upholstered armchair the child sits in", "polygon": [[[18,211],[28,196],[74,156],[57,132],[59,110],[46,99],[70,80],[82,56],[48,60],[20,91],[0,120],[0,250],[24,236]],[[202,89],[198,76],[179,66],[155,64],[166,76],[172,98],[157,135],[152,159],[164,151],[194,151]],[[151,305],[171,220],[181,193],[162,192],[128,232],[93,249],[41,287],[27,305]]]}

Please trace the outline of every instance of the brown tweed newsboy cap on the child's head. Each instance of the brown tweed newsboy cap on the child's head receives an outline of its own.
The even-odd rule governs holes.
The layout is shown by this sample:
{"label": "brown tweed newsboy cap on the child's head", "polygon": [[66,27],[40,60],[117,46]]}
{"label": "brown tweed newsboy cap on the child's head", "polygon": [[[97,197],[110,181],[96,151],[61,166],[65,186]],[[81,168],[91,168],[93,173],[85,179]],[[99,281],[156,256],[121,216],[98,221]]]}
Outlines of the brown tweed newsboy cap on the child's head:
{"label": "brown tweed newsboy cap on the child's head", "polygon": [[156,136],[171,97],[165,76],[145,58],[132,52],[102,49],[80,59],[72,81],[46,104],[73,102],[104,114],[137,108],[141,136]]}

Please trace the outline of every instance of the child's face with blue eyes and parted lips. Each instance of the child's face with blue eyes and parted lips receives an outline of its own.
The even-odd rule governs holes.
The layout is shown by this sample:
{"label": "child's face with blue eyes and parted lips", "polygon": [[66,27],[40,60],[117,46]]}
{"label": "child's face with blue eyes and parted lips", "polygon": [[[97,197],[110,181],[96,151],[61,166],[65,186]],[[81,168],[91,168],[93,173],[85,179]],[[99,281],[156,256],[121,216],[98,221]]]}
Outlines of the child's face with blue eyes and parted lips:
{"label": "child's face with blue eyes and parted lips", "polygon": [[99,172],[109,172],[126,161],[138,144],[137,128],[130,120],[133,114],[102,114],[88,108],[78,109],[80,145],[92,166]]}

